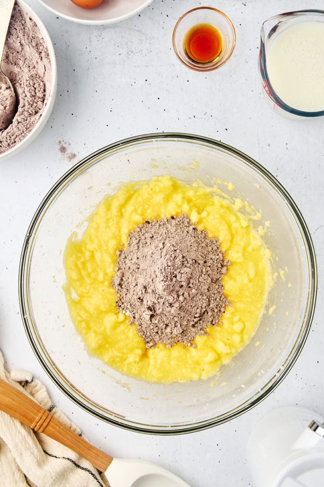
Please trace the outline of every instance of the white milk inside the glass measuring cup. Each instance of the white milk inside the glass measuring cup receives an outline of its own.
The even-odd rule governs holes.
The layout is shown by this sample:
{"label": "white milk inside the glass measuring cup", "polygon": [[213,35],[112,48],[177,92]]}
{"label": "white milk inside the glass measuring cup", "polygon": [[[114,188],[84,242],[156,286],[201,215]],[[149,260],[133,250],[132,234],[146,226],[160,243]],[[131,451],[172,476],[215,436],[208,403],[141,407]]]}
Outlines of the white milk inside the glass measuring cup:
{"label": "white milk inside the glass measuring cup", "polygon": [[303,112],[324,110],[324,22],[300,22],[273,36],[266,69],[286,105]]}

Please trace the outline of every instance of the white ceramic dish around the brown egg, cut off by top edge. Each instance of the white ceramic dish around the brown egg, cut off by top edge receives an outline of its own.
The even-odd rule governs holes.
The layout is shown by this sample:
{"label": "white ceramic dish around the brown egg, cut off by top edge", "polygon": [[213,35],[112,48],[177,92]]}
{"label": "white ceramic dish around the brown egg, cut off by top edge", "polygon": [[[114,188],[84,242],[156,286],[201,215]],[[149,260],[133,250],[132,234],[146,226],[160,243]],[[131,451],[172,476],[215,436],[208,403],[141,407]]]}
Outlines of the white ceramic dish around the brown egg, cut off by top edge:
{"label": "white ceramic dish around the brown egg, cut off by top edge", "polygon": [[72,22],[80,24],[112,24],[141,12],[153,0],[103,0],[94,9],[83,9],[71,0],[38,0],[44,7]]}

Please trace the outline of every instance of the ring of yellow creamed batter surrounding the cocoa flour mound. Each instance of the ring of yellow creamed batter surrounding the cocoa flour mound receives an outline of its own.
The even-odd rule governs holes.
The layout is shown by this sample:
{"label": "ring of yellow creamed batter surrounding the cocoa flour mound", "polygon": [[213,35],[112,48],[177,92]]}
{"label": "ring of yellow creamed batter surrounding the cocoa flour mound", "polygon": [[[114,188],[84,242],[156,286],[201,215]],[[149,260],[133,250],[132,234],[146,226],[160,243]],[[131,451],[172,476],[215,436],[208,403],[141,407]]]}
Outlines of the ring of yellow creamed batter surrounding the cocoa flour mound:
{"label": "ring of yellow creamed batter surrounding the cocoa flour mound", "polygon": [[[271,283],[270,252],[238,206],[216,188],[168,176],[127,183],[105,196],[82,238],[71,235],[64,253],[67,303],[89,353],[126,375],[165,383],[207,379],[229,362],[256,331]],[[195,338],[195,347],[177,343],[146,349],[136,326],[116,310],[111,287],[116,251],[143,221],[181,213],[209,237],[219,238],[231,262],[223,277],[231,305],[222,326],[208,327],[207,335]]]}

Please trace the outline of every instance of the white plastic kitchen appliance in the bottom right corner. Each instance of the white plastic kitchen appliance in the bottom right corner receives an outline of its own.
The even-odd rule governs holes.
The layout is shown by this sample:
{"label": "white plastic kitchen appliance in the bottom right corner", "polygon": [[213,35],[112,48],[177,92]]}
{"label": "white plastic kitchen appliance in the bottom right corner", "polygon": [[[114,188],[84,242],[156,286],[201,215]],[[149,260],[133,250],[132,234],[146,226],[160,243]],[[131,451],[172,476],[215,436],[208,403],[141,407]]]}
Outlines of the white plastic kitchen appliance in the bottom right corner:
{"label": "white plastic kitchen appliance in the bottom right corner", "polygon": [[247,448],[256,487],[323,487],[324,418],[297,406],[272,410]]}

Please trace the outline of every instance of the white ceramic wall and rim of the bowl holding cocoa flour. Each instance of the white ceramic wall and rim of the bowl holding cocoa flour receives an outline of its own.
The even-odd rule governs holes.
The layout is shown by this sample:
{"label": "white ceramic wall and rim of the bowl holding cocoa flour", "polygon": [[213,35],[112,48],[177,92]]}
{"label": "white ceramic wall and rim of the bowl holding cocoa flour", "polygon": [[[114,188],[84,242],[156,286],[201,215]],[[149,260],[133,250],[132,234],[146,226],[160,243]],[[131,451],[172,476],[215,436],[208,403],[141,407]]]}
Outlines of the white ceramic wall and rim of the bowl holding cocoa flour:
{"label": "white ceramic wall and rim of the bowl holding cocoa flour", "polygon": [[46,122],[48,121],[52,109],[54,107],[54,102],[55,102],[55,97],[56,97],[56,89],[57,89],[57,67],[56,67],[56,58],[55,58],[55,51],[54,47],[50,38],[50,34],[47,31],[47,28],[43,24],[42,20],[38,17],[38,15],[35,14],[35,12],[29,7],[29,5],[24,2],[24,0],[16,0],[17,5],[26,12],[33,20],[36,22],[39,31],[41,32],[45,44],[48,48],[49,55],[50,55],[50,60],[51,60],[51,68],[52,68],[52,82],[51,82],[51,88],[50,92],[47,98],[47,102],[44,108],[44,111],[42,113],[41,118],[38,120],[34,128],[26,135],[26,137],[20,141],[18,144],[16,144],[14,147],[9,149],[6,152],[3,152],[0,154],[0,160],[5,159],[6,157],[12,156],[14,154],[17,154],[21,150],[25,149],[36,137],[41,133],[43,128],[46,125]]}

